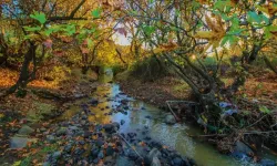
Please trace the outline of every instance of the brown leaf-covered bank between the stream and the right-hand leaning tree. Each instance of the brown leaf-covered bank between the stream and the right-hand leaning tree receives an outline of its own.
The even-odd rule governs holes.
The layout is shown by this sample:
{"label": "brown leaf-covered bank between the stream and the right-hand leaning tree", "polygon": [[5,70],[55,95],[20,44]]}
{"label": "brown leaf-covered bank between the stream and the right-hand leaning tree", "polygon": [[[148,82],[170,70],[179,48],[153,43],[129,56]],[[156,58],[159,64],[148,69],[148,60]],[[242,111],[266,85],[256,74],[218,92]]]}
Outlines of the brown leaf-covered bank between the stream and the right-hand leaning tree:
{"label": "brown leaf-covered bank between the stream and the right-hand leaning tree", "polygon": [[187,100],[191,96],[186,83],[173,76],[154,82],[142,82],[133,77],[116,79],[116,82],[121,85],[121,90],[130,96],[161,107],[166,106],[166,101]]}

